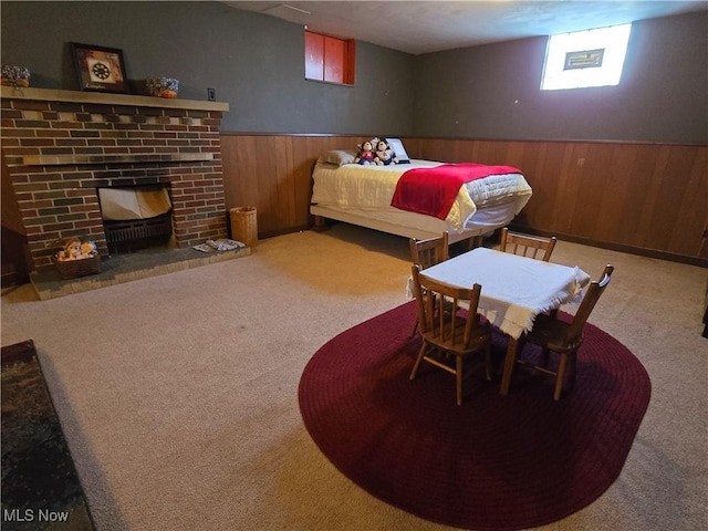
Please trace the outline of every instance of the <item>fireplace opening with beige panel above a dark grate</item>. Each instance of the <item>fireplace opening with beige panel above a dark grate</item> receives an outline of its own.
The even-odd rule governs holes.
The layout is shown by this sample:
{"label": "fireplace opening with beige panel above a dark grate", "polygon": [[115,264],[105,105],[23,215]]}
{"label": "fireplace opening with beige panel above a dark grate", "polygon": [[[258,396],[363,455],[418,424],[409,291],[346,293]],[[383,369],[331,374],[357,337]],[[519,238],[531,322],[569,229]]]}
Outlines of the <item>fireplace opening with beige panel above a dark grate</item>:
{"label": "fireplace opening with beige panel above a dark grate", "polygon": [[167,243],[171,202],[164,186],[98,188],[108,252],[133,252]]}

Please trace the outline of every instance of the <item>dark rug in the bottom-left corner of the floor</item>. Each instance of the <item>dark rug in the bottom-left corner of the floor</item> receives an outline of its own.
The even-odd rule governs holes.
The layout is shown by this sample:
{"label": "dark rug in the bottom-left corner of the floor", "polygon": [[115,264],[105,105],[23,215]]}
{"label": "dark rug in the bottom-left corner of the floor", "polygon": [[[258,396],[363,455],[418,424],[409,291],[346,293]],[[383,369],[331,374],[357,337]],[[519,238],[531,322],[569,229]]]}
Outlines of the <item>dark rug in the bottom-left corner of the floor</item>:
{"label": "dark rug in the bottom-left corner of the floor", "polygon": [[32,341],[1,350],[2,530],[93,530]]}

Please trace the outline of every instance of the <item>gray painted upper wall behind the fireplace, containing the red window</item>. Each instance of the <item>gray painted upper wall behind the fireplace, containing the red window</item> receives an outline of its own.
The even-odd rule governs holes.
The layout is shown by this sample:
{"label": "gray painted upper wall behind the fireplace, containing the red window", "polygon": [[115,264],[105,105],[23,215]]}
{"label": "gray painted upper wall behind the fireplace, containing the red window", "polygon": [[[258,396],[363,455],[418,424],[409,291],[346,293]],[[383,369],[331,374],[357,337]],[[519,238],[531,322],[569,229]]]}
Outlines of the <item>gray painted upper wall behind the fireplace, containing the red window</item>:
{"label": "gray painted upper wall behind the fireplace, containing the red window", "polygon": [[179,80],[179,97],[228,102],[222,131],[407,135],[413,55],[356,43],[356,83],[305,81],[303,28],[218,2],[2,1],[2,64],[31,85],[77,90],[71,41],[123,50],[133,93]]}

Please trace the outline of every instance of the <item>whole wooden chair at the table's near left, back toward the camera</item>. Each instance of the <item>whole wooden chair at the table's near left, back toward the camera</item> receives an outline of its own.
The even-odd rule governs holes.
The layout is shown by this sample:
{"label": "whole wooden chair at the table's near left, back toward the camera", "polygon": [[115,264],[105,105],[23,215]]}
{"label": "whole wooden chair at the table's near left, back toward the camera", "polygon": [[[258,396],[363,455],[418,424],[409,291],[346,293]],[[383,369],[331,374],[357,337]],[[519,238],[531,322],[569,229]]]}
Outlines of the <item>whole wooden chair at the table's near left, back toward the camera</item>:
{"label": "whole wooden chair at the table's near left, back toward the camera", "polygon": [[[464,361],[469,354],[485,352],[487,379],[491,379],[491,333],[488,326],[480,324],[477,314],[481,287],[475,284],[471,289],[462,289],[437,282],[420,273],[419,266],[414,266],[412,271],[423,346],[410,379],[415,379],[423,361],[454,374],[459,406],[462,404]],[[448,305],[459,309],[461,302],[469,304],[466,313],[447,310]]]}

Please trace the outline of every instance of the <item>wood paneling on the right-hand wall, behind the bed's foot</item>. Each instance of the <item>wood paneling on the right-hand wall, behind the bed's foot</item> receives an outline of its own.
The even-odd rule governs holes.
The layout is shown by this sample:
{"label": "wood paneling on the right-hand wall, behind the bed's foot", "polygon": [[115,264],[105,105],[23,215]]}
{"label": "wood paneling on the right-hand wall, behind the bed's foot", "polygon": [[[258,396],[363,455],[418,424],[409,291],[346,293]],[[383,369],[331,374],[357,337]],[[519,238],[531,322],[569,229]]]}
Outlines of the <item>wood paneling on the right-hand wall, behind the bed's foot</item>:
{"label": "wood paneling on the right-hand wall, behind the bed's foot", "polygon": [[420,158],[521,168],[533,197],[513,222],[520,229],[648,256],[708,259],[707,146],[441,139],[407,145]]}

